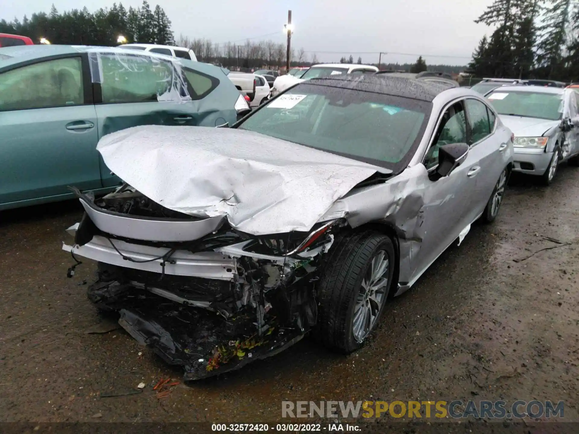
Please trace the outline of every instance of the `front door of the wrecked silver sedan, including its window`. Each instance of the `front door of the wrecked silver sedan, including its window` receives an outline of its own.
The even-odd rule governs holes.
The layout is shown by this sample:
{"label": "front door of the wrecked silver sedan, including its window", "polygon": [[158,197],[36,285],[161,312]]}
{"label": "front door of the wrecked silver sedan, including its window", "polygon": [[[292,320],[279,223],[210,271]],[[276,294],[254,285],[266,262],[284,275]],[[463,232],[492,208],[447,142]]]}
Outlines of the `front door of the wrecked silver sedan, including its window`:
{"label": "front door of the wrecked silver sedan, including its window", "polygon": [[[433,141],[423,159],[432,174],[438,167],[441,146],[468,143],[470,133],[464,100],[448,106],[439,120]],[[422,274],[460,233],[470,225],[471,192],[474,191],[478,161],[470,153],[450,175],[437,181],[427,181],[424,189],[423,240],[416,255],[413,275]],[[474,172],[473,172],[474,171]]]}

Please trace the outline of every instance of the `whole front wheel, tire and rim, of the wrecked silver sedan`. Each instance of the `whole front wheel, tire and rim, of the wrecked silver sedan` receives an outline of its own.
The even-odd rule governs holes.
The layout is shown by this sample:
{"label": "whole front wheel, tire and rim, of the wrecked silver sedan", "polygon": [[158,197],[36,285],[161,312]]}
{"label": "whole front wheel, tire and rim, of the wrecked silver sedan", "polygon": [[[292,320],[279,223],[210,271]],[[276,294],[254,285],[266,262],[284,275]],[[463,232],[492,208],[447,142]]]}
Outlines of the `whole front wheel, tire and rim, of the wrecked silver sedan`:
{"label": "whole front wheel, tire and rim, of the wrecked silver sedan", "polygon": [[360,348],[382,317],[394,269],[389,237],[361,232],[338,238],[317,286],[317,339],[340,352]]}

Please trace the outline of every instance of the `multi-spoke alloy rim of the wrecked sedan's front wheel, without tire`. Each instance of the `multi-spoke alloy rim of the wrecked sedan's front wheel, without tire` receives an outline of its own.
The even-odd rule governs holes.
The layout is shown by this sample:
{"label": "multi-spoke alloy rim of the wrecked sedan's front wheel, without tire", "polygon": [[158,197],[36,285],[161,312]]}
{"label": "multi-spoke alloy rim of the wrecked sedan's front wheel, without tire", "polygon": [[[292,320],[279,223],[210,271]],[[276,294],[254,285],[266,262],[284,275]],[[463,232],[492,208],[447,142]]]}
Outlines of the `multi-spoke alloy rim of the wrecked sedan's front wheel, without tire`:
{"label": "multi-spoke alloy rim of the wrecked sedan's front wheel, without tire", "polygon": [[372,258],[368,271],[362,279],[360,292],[354,306],[353,334],[356,341],[364,340],[375,326],[380,310],[386,300],[389,276],[389,260],[385,251],[380,250]]}

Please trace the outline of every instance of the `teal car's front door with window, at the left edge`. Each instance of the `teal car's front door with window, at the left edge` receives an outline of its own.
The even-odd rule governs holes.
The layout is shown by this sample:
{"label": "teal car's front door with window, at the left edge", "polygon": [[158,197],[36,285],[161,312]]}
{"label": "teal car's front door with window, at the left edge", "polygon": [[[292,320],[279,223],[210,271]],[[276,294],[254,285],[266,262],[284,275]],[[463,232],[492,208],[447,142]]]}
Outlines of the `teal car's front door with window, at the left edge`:
{"label": "teal car's front door with window, at the left edge", "polygon": [[[82,56],[0,73],[0,209],[101,187],[97,116]],[[31,201],[33,200],[34,201]]]}

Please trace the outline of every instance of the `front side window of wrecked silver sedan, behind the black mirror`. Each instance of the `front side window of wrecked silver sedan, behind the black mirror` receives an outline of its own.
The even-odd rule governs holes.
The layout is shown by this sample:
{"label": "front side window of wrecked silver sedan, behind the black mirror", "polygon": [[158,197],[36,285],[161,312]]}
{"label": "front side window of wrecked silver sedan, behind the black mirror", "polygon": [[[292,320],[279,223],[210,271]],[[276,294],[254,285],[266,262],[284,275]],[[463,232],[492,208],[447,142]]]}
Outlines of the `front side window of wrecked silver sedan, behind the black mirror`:
{"label": "front side window of wrecked silver sedan, behind the black mirror", "polygon": [[467,124],[461,102],[450,106],[442,115],[442,120],[434,134],[433,144],[424,157],[427,169],[438,165],[438,150],[442,145],[467,142]]}

